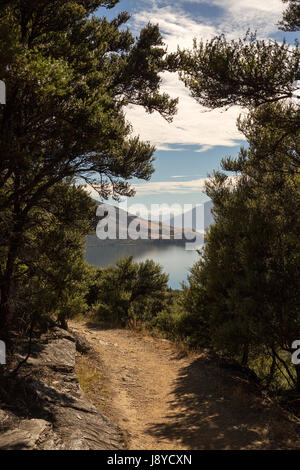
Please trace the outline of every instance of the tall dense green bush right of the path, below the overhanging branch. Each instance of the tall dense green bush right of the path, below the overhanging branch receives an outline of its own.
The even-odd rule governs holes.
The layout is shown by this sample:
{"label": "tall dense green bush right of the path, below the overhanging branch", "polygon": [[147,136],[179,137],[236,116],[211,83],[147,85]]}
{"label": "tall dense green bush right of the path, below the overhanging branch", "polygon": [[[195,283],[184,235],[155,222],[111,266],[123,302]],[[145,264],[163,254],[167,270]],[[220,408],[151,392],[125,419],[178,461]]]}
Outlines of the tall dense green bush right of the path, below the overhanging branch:
{"label": "tall dense green bush right of the path, below the overhanging branch", "polygon": [[[213,347],[241,361],[251,348],[291,352],[300,334],[299,176],[289,171],[289,137],[258,157],[258,135],[264,146],[274,143],[272,129],[259,127],[259,113],[244,123],[249,150],[223,161],[240,176],[230,182],[215,173],[207,186],[215,224],[185,293],[188,311],[208,327],[204,338],[208,332]],[[290,356],[284,367],[291,368]]]}

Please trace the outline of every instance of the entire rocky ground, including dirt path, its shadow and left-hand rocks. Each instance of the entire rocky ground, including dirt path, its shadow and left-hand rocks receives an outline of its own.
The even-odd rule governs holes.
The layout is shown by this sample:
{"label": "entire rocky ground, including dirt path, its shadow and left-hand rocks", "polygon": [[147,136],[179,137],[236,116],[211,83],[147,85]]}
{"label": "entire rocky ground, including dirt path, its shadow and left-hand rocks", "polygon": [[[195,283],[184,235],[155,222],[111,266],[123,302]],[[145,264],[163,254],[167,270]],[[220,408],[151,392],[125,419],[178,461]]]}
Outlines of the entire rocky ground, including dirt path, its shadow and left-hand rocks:
{"label": "entire rocky ground, including dirt path, its shadow and left-hand rocks", "polygon": [[249,370],[124,329],[54,329],[0,396],[0,449],[300,448],[299,419]]}

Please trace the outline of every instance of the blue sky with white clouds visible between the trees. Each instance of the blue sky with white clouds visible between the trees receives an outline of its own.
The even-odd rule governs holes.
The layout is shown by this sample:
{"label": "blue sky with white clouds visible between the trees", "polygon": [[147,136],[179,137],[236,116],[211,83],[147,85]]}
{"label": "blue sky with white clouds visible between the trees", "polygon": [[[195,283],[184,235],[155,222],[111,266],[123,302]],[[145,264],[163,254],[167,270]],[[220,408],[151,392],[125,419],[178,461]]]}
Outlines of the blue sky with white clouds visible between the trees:
{"label": "blue sky with white clouds visible between the trees", "polygon": [[[293,42],[294,33],[278,31],[276,24],[286,5],[281,0],[121,0],[112,10],[99,9],[99,16],[131,14],[128,23],[138,34],[149,21],[159,24],[169,52],[191,48],[194,38],[210,39],[221,33],[243,38],[250,28],[258,38],[284,37]],[[246,111],[202,108],[179,80],[177,74],[162,75],[162,91],[179,97],[178,114],[170,124],[158,113],[147,114],[142,107],[129,106],[127,119],[134,135],[156,146],[155,173],[149,182],[134,180],[136,196],[128,204],[199,204],[207,200],[205,179],[220,168],[223,157],[238,155],[246,145],[236,127],[237,117]]]}

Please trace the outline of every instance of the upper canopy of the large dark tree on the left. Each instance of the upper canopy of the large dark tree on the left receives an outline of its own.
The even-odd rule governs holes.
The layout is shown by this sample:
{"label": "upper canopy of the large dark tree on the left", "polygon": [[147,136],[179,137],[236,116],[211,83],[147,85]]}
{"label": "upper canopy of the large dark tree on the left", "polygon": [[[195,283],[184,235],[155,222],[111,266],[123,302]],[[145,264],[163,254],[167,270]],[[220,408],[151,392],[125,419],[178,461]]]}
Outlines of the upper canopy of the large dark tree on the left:
{"label": "upper canopy of the large dark tree on the left", "polygon": [[[148,179],[153,171],[154,149],[130,138],[123,109],[134,103],[167,119],[174,114],[176,100],[159,93],[162,38],[157,26],[148,25],[135,40],[120,29],[129,18],[125,13],[111,22],[89,16],[107,3],[116,2],[36,1],[33,8],[16,1],[1,7],[0,31],[8,33],[11,56],[2,69],[7,105],[0,116],[0,174],[5,182],[26,169],[23,197],[45,175],[47,185],[80,175],[99,182],[104,197],[130,195],[126,181]],[[3,48],[0,62],[6,61]]]}

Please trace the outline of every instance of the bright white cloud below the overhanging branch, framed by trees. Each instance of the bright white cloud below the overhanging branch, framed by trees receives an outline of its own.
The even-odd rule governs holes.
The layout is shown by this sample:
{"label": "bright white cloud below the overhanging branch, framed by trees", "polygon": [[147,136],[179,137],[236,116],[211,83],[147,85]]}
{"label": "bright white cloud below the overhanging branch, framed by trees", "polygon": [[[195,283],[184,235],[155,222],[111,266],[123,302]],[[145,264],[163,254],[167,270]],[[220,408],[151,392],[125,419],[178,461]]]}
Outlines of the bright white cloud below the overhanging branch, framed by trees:
{"label": "bright white cloud below the overhanging branch, framed by trees", "polygon": [[127,118],[133,125],[134,134],[150,141],[159,150],[174,151],[170,146],[181,144],[197,145],[199,152],[205,152],[217,145],[237,145],[243,139],[236,127],[237,117],[242,111],[240,108],[208,112],[189,95],[178,76],[170,72],[163,75],[162,90],[172,97],[179,97],[178,113],[171,124],[157,112],[147,115],[140,106],[127,109]]}

